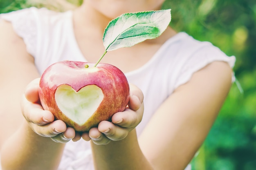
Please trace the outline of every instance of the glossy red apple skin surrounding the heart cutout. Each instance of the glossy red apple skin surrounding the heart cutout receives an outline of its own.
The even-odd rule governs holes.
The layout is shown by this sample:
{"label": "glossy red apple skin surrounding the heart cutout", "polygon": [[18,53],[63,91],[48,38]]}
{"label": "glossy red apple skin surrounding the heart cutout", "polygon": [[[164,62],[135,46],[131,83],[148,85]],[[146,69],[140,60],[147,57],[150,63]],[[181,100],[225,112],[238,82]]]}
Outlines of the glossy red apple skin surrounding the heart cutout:
{"label": "glossy red apple skin surrounding the heart cutout", "polygon": [[[85,68],[86,64],[89,68]],[[76,92],[88,85],[96,85],[102,90],[102,102],[82,125],[63,114],[56,104],[56,89],[63,84],[71,86]],[[39,98],[44,110],[51,111],[55,119],[63,120],[76,131],[86,132],[103,120],[110,121],[113,114],[124,111],[130,98],[130,89],[124,73],[111,64],[99,63],[94,67],[94,63],[89,62],[62,61],[44,71],[39,83]]]}

